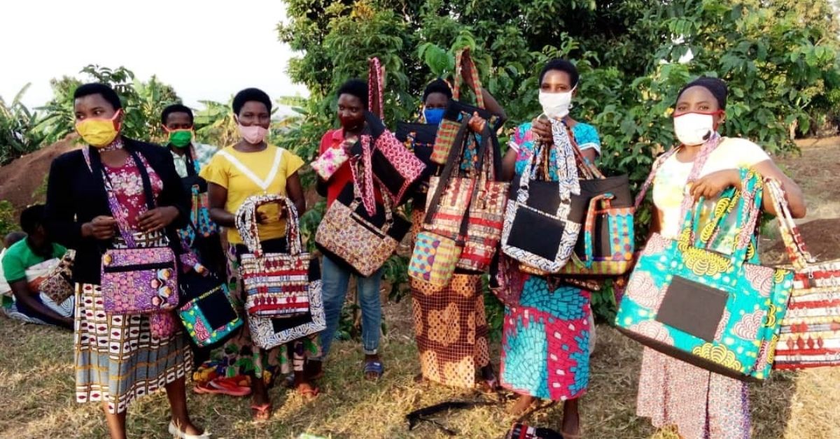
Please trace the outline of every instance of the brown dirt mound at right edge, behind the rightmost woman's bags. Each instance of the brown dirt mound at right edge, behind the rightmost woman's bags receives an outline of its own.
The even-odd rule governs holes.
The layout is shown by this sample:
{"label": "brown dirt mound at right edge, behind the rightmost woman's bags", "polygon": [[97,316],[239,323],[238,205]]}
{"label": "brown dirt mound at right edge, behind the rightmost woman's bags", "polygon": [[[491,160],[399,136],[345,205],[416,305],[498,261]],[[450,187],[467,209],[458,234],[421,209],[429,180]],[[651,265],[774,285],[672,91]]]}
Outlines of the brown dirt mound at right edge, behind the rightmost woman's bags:
{"label": "brown dirt mound at right edge, behind the rightmost woman's bags", "polygon": [[[808,252],[817,260],[840,258],[840,218],[806,222],[799,225],[799,230]],[[789,264],[785,243],[775,240],[762,260],[767,264]]]}

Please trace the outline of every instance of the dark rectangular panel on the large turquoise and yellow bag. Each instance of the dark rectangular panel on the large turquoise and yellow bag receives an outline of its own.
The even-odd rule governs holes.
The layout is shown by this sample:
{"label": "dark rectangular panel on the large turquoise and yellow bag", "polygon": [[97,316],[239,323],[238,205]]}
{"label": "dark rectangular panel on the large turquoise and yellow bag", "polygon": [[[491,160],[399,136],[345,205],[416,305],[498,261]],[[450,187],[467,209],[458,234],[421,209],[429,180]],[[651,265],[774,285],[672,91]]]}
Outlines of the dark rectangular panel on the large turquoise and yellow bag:
{"label": "dark rectangular panel on the large turquoise and yellow bag", "polygon": [[656,321],[712,342],[728,297],[725,291],[674,276],[665,290]]}

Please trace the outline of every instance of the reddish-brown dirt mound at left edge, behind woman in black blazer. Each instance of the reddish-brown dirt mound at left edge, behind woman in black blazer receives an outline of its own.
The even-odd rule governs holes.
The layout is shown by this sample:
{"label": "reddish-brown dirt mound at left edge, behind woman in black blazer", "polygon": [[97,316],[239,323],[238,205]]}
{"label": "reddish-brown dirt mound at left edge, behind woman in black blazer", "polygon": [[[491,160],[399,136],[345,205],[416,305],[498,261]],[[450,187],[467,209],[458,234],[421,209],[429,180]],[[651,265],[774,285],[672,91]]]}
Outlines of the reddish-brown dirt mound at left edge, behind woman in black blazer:
{"label": "reddish-brown dirt mound at left edge, behind woman in black blazer", "polygon": [[0,167],[0,200],[11,202],[16,211],[31,204],[34,191],[50,172],[52,160],[73,148],[74,138],[65,138]]}

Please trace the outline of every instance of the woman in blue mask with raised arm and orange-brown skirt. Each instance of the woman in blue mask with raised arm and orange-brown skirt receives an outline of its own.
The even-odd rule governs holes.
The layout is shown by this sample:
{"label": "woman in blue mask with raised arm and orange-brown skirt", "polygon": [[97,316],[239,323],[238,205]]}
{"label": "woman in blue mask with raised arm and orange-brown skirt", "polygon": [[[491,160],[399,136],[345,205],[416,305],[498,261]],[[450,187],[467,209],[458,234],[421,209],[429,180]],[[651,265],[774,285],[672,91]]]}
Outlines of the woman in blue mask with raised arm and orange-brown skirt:
{"label": "woman in blue mask with raised arm and orange-brown skirt", "polygon": [[[481,92],[486,109],[504,118],[504,110],[490,93],[483,89]],[[423,122],[440,123],[450,99],[452,91],[445,81],[438,79],[429,83],[423,91]],[[470,130],[480,133],[484,123],[483,118],[473,115]],[[413,206],[412,237],[416,238],[425,217],[423,197],[415,198]],[[444,289],[432,289],[424,282],[412,280],[411,288],[420,354],[421,373],[417,375],[417,381],[468,389],[478,383],[484,389],[495,390],[498,384],[490,363],[480,274],[456,273]],[[452,325],[453,318],[461,324]],[[476,379],[475,371],[480,372],[480,379]]]}

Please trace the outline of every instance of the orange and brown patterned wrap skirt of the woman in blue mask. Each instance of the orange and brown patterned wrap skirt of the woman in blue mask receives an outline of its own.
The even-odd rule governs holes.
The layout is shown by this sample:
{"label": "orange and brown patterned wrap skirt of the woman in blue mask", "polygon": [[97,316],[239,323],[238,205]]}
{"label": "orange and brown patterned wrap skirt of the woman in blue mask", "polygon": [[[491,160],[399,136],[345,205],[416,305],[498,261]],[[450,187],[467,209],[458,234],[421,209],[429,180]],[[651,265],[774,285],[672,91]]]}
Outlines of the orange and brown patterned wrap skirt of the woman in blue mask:
{"label": "orange and brown patterned wrap skirt of the woman in blue mask", "polygon": [[[412,212],[412,238],[423,224]],[[444,289],[411,280],[412,316],[420,369],[430,381],[471,389],[479,368],[490,364],[480,274],[454,274]]]}

